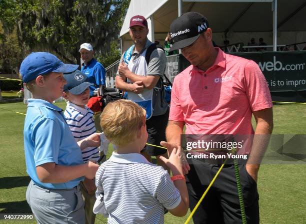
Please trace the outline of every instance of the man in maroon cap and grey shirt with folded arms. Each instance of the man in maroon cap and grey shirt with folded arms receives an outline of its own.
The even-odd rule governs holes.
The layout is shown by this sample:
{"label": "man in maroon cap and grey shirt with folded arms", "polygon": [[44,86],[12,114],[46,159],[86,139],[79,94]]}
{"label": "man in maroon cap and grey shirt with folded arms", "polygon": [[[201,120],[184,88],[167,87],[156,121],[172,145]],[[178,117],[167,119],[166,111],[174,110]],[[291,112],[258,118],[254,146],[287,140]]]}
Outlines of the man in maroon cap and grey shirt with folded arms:
{"label": "man in maroon cap and grey shirt with folded arms", "polygon": [[[146,110],[147,143],[159,145],[165,140],[165,128],[169,115],[168,104],[164,99],[162,76],[165,71],[166,57],[162,49],[154,49],[148,64],[145,53],[151,42],[147,40],[147,22],[142,16],[130,19],[129,35],[134,43],[121,57],[115,78],[116,88],[127,91],[129,100]],[[149,161],[156,156],[157,163],[167,169],[159,156],[167,156],[166,150],[147,145],[142,150]]]}

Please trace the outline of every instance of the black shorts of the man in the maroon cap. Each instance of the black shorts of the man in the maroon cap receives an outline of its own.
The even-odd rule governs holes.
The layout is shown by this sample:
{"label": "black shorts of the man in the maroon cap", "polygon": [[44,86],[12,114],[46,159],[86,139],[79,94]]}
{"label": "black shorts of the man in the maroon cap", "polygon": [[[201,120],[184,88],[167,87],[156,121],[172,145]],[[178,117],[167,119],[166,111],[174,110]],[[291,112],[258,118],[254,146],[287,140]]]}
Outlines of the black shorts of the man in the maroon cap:
{"label": "black shorts of the man in the maroon cap", "polygon": [[[147,143],[160,146],[160,141],[165,141],[165,129],[168,124],[169,110],[163,115],[153,116],[148,119],[146,124]],[[167,152],[166,149],[146,145],[145,150],[150,156],[161,155]]]}

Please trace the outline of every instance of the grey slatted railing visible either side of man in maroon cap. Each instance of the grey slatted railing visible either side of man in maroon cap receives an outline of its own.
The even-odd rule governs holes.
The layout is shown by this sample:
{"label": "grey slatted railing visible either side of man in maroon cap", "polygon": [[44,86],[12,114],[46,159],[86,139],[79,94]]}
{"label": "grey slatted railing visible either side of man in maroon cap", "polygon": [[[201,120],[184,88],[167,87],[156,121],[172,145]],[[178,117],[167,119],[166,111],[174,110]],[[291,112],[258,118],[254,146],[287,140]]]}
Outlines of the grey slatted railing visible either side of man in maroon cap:
{"label": "grey slatted railing visible either side of man in maroon cap", "polygon": [[[166,68],[165,75],[168,79],[173,82],[174,77],[179,73],[179,56],[178,55],[170,55],[166,56]],[[107,66],[106,71],[106,87],[114,87],[115,77],[118,70],[120,60],[115,61],[111,65]]]}

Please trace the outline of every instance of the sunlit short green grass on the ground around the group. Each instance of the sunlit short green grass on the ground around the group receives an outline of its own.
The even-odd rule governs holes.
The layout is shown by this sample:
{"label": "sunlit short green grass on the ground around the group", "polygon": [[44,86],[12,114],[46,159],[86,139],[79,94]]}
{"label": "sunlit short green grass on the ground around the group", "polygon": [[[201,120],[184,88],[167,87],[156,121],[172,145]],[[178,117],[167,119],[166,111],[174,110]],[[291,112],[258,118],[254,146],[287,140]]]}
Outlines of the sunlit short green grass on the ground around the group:
{"label": "sunlit short green grass on the ground around the group", "polygon": [[[65,107],[65,103],[56,105]],[[18,102],[1,104],[0,108],[0,213],[30,213],[25,200],[29,178],[23,151],[24,115],[11,112],[25,113],[26,106]],[[273,133],[305,134],[306,105],[276,105],[273,115]],[[306,223],[305,170],[306,165],[261,165],[258,176],[260,223]],[[186,218],[168,213],[165,223],[184,223]],[[0,220],[0,223],[14,221]],[[106,223],[106,219],[97,215],[96,223]]]}

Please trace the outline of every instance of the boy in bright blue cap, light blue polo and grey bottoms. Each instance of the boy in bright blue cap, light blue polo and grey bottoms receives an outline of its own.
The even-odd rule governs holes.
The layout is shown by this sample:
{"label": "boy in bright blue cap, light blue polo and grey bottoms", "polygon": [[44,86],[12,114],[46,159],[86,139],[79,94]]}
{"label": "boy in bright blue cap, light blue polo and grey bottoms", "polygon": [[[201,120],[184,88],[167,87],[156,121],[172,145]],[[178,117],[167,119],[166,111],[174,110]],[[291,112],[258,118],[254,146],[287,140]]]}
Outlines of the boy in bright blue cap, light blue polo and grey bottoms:
{"label": "boy in bright blue cap, light blue polo and grey bottoms", "polygon": [[54,55],[36,52],[21,63],[20,74],[33,99],[24,121],[26,172],[31,181],[26,200],[38,223],[85,223],[79,182],[93,178],[98,165],[84,163],[80,149],[99,145],[99,134],[75,142],[62,110],[52,101],[62,95],[63,73],[77,65],[64,64]]}

